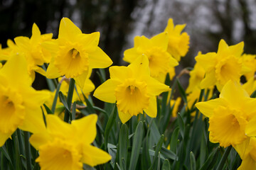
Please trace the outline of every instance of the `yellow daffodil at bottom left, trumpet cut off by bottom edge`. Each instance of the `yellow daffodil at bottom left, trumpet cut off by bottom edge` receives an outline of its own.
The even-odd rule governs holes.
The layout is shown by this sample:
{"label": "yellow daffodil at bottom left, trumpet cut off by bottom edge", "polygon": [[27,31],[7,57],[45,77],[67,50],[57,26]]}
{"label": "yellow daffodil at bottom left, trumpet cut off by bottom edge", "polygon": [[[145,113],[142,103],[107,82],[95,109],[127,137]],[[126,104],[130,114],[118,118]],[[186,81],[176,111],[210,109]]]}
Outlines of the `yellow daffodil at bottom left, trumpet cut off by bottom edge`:
{"label": "yellow daffodil at bottom left, trumpet cut off by bottom edge", "polygon": [[79,169],[82,164],[96,166],[110,161],[110,154],[91,145],[95,140],[97,115],[88,115],[71,124],[56,115],[46,115],[46,130],[31,136],[30,142],[38,149],[36,162],[41,169]]}

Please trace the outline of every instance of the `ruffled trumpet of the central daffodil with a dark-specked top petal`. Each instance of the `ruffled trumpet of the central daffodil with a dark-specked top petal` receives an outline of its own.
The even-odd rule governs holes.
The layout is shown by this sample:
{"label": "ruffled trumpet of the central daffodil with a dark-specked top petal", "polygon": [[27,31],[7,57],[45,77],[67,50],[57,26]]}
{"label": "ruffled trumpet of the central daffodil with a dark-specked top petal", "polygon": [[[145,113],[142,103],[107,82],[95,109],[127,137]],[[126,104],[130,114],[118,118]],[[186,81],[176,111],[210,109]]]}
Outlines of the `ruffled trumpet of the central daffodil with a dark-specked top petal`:
{"label": "ruffled trumpet of the central daffodil with a dark-specked top petal", "polygon": [[115,89],[117,108],[123,113],[138,115],[149,106],[149,96],[144,81],[126,79]]}

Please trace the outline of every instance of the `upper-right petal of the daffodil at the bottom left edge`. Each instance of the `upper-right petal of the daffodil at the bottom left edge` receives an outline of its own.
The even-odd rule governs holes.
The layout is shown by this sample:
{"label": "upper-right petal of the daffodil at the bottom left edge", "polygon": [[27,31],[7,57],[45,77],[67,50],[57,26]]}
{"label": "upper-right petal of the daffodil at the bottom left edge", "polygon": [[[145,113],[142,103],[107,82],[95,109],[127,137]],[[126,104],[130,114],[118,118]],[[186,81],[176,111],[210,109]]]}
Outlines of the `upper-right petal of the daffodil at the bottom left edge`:
{"label": "upper-right petal of the daffodil at the bottom left edge", "polygon": [[97,115],[92,114],[78,120],[73,120],[71,125],[75,126],[78,130],[78,139],[90,145],[95,140],[97,134],[96,123]]}

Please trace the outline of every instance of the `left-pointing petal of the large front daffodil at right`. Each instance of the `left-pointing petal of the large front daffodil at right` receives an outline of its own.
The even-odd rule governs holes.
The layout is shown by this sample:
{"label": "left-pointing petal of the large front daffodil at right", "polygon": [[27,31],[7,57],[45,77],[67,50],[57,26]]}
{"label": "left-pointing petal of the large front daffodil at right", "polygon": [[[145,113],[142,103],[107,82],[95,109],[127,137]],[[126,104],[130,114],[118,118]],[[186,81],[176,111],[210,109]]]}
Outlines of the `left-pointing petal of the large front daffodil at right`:
{"label": "left-pointing petal of the large front daffodil at right", "polygon": [[203,113],[203,115],[206,115],[206,117],[210,118],[213,115],[215,108],[218,106],[225,106],[225,104],[226,101],[222,98],[215,98],[210,101],[196,103],[196,108],[198,108],[198,110]]}

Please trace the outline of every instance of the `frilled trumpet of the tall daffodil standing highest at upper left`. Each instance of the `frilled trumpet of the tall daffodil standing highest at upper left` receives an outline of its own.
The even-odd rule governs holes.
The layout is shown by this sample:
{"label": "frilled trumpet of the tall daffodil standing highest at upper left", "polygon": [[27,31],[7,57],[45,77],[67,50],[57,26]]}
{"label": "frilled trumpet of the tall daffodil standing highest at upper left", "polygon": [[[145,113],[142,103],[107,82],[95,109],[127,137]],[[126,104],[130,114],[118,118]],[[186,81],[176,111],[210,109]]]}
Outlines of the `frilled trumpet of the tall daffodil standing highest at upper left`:
{"label": "frilled trumpet of the tall daffodil standing highest at upper left", "polygon": [[54,64],[61,75],[65,75],[67,78],[78,77],[88,70],[88,53],[78,45],[67,43],[59,47]]}

